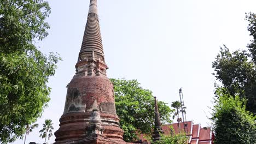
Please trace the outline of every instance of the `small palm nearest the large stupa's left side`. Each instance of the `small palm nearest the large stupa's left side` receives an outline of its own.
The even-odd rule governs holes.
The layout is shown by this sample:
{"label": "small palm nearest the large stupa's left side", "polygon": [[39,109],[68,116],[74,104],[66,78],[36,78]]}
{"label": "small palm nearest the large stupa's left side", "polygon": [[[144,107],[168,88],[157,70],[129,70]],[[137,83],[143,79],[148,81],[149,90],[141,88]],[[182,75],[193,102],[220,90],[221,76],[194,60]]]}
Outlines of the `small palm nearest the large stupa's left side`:
{"label": "small palm nearest the large stupa's left side", "polygon": [[40,137],[42,137],[42,139],[45,138],[44,143],[46,142],[47,137],[48,137],[48,140],[50,140],[50,137],[53,136],[52,130],[54,129],[54,127],[53,127],[53,123],[51,122],[52,122],[51,119],[45,119],[45,123],[43,124],[43,129],[39,131],[39,133],[42,133],[40,134]]}

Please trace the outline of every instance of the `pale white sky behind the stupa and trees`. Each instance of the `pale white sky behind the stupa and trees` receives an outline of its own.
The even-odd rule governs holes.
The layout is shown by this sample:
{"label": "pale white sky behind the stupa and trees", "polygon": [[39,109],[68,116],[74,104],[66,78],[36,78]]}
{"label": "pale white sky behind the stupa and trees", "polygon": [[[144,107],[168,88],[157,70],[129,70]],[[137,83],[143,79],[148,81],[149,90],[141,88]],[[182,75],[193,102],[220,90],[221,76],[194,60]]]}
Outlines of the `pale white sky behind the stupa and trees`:
{"label": "pale white sky behind the stupa and trees", "polygon": [[[66,85],[75,74],[89,8],[89,0],[49,3],[51,29],[38,45],[44,53],[60,53],[63,61],[49,81],[49,107],[26,143],[44,142],[37,132],[44,119],[52,119],[55,130],[59,129]],[[137,79],[169,106],[179,100],[182,87],[187,119],[205,127],[214,91],[212,62],[223,44],[230,50],[246,49],[250,37],[245,13],[256,13],[255,5],[255,0],[98,0],[107,75]]]}

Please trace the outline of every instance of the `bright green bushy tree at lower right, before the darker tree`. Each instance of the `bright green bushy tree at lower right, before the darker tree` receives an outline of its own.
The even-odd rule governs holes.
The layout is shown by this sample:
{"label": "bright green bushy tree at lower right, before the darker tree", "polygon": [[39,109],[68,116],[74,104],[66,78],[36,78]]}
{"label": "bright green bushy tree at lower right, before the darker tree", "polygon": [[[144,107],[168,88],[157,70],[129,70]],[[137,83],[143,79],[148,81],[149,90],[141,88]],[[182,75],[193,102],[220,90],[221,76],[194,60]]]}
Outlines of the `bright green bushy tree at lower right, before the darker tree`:
{"label": "bright green bushy tree at lower right, before the darker tree", "polygon": [[216,144],[254,144],[255,116],[246,111],[246,99],[232,97],[224,88],[216,91],[218,99],[213,107],[212,121]]}

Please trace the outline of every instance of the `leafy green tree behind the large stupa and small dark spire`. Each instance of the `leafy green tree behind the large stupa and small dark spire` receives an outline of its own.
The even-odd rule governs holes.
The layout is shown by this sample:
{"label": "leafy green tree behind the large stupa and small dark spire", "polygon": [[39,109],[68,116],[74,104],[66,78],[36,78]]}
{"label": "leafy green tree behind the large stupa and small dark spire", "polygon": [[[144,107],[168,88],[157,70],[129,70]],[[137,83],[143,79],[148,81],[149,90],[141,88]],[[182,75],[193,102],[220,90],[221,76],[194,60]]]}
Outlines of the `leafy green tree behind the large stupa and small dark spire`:
{"label": "leafy green tree behind the large stupa and small dark spire", "polygon": [[[154,96],[148,89],[139,86],[137,80],[110,79],[114,85],[115,106],[120,126],[125,131],[124,140],[137,140],[137,134],[152,134],[154,124]],[[172,110],[163,101],[158,101],[162,123],[171,123]]]}

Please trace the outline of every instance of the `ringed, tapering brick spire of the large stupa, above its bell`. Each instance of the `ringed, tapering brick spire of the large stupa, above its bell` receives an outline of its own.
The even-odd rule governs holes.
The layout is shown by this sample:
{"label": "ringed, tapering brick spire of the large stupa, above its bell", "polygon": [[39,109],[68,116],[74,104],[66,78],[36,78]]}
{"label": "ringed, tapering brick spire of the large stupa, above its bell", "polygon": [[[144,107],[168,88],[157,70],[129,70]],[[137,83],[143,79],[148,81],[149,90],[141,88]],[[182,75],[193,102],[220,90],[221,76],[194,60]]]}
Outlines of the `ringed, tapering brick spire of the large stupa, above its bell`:
{"label": "ringed, tapering brick spire of the large stupa, above its bell", "polygon": [[77,74],[106,75],[108,67],[103,53],[97,0],[90,0],[82,46],[79,52],[78,63],[75,65]]}

